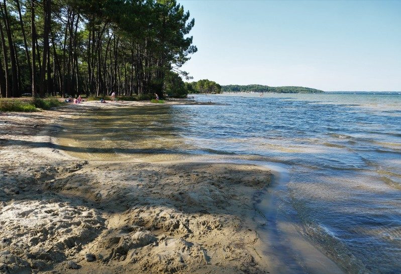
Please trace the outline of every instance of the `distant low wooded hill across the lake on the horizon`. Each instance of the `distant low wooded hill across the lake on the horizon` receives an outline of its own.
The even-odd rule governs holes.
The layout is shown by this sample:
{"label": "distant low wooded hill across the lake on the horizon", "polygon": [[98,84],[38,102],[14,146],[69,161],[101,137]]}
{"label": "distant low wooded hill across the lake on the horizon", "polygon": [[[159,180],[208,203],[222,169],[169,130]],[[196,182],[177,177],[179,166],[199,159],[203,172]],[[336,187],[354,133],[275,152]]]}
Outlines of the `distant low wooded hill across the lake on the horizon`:
{"label": "distant low wooded hill across the lake on the horizon", "polygon": [[323,90],[317,90],[304,87],[269,87],[263,85],[227,85],[222,86],[222,92],[271,92],[271,93],[324,93]]}

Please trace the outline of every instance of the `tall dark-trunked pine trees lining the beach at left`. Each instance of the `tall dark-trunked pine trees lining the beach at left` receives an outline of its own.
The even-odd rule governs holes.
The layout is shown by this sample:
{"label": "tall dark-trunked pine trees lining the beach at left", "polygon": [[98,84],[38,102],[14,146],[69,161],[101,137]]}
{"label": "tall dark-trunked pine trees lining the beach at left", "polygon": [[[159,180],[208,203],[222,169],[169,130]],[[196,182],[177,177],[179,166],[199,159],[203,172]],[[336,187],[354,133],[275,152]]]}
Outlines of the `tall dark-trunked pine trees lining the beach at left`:
{"label": "tall dark-trunked pine trees lining the beach at left", "polygon": [[193,25],[175,0],[0,0],[0,94],[162,97]]}

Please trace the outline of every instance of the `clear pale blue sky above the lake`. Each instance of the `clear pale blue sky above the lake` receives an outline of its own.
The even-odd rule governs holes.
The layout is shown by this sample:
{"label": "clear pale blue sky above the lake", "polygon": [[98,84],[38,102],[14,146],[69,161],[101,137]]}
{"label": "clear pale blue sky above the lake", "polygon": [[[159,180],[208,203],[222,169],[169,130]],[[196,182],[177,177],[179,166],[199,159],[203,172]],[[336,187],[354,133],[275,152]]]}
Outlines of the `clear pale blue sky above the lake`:
{"label": "clear pale blue sky above the lake", "polygon": [[177,2],[195,19],[189,81],[401,91],[401,1]]}

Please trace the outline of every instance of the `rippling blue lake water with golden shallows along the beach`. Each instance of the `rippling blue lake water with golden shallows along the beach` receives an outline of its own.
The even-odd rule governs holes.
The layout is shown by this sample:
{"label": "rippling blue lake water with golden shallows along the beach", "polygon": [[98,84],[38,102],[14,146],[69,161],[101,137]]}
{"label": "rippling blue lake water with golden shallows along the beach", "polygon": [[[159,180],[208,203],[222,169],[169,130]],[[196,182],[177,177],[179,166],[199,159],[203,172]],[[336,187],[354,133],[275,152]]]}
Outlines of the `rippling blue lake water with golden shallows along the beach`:
{"label": "rippling blue lake water with golden shallows along the beach", "polygon": [[92,160],[276,163],[279,207],[305,237],[347,272],[401,271],[401,95],[194,100],[217,104],[83,112],[59,142]]}

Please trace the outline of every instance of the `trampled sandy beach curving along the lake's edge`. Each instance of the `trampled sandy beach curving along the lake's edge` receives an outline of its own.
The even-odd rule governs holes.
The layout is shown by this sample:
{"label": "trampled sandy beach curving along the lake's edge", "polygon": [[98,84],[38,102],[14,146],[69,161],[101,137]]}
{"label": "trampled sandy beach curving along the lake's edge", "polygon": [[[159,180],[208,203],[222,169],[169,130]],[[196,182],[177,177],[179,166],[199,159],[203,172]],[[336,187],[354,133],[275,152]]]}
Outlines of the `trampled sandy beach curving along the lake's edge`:
{"label": "trampled sandy beach curving along the lake's edge", "polygon": [[86,161],[55,143],[62,119],[117,105],[0,113],[0,272],[268,272],[265,168]]}

